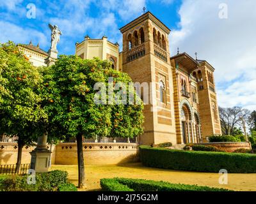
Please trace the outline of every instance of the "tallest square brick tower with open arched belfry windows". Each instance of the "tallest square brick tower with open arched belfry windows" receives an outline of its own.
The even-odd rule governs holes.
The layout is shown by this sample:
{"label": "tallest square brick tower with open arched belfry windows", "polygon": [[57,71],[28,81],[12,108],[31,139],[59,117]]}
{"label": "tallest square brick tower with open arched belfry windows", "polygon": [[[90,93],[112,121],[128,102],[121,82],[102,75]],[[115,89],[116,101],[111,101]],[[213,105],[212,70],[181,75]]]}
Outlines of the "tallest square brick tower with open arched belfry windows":
{"label": "tallest square brick tower with open arched belfry windows", "polygon": [[[176,143],[170,29],[148,11],[120,31],[123,34],[122,70],[133,82],[148,84],[148,89],[141,90],[144,102],[147,103],[147,94],[151,103],[145,105],[145,129],[140,143]],[[150,85],[155,89],[150,89]]]}

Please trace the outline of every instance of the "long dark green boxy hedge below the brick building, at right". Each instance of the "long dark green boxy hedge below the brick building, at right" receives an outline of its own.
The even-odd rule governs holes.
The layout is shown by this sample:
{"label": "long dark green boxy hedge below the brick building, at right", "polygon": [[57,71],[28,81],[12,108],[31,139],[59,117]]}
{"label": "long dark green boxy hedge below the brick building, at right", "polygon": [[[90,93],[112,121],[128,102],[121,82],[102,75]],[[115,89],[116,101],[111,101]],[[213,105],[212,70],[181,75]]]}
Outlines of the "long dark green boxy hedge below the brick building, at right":
{"label": "long dark green boxy hedge below the brick building, at right", "polygon": [[228,173],[256,173],[255,154],[170,150],[140,146],[140,160],[156,168]]}

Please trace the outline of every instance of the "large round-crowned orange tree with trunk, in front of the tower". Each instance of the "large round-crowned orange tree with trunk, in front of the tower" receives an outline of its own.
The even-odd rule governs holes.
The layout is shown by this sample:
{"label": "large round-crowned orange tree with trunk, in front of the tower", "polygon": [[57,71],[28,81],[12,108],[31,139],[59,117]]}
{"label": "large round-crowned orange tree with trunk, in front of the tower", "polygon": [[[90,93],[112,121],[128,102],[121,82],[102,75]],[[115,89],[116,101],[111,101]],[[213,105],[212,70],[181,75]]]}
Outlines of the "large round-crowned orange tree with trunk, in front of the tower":
{"label": "large round-crowned orange tree with trunk, in front of the tower", "polygon": [[[84,60],[74,55],[61,55],[44,73],[41,92],[45,99],[42,105],[50,121],[49,136],[67,140],[76,138],[79,187],[84,186],[83,137],[133,138],[143,132],[143,103],[140,99],[138,105],[115,105],[118,100],[115,99],[116,90],[111,95],[114,104],[95,103],[95,94],[99,90],[93,87],[100,83],[108,89],[109,77],[113,77],[113,84],[124,82],[126,87],[131,82],[127,74],[111,69],[108,61]],[[100,91],[103,93],[106,89]],[[134,89],[130,94],[137,97]],[[103,95],[99,99],[103,99]]]}

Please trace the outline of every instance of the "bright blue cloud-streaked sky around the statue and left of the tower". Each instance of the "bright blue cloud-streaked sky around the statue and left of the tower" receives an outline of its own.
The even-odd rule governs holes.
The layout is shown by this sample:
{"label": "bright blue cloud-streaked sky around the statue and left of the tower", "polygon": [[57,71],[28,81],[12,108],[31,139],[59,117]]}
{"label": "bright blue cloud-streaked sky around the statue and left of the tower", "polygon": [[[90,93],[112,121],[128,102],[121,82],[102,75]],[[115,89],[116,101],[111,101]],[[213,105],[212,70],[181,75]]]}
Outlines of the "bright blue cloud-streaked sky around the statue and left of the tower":
{"label": "bright blue cloud-streaked sky around the statue and left of the tower", "polygon": [[[143,13],[143,6],[146,11],[150,10],[154,15],[161,18],[164,24],[170,28],[177,28],[179,22],[179,10],[181,1],[141,1],[135,10],[127,13],[123,7],[123,3],[112,1],[106,3],[109,5],[102,6],[104,1],[11,1],[12,3],[0,3],[0,14],[5,22],[19,25],[23,29],[33,29],[45,35],[45,38],[32,34],[29,38],[12,38],[10,40],[15,43],[29,43],[31,39],[34,44],[40,43],[40,47],[44,50],[49,49],[51,35],[48,28],[48,23],[57,24],[63,36],[61,36],[60,44],[58,45],[59,54],[74,54],[76,41],[83,41],[84,36],[88,34],[90,38],[102,38],[103,35],[108,36],[110,41],[114,43],[118,41],[122,44],[122,35],[118,28],[129,23]],[[26,13],[29,3],[36,6],[36,18],[27,18]],[[5,4],[5,5],[4,5]],[[136,1],[134,1],[136,4]],[[157,6],[156,6],[157,5]],[[111,8],[109,8],[109,7]],[[120,10],[120,7],[122,10]],[[82,18],[83,17],[83,18]],[[107,21],[106,25],[100,24],[100,19]],[[84,22],[83,22],[84,21]],[[87,21],[87,23],[85,22]],[[74,28],[72,28],[74,22]],[[82,22],[82,23],[81,23]],[[81,23],[81,24],[80,24]],[[81,26],[77,26],[80,24]],[[97,25],[97,29],[95,29]],[[79,27],[79,29],[78,29]],[[74,29],[74,32],[72,32]],[[79,30],[79,32],[77,32]]]}

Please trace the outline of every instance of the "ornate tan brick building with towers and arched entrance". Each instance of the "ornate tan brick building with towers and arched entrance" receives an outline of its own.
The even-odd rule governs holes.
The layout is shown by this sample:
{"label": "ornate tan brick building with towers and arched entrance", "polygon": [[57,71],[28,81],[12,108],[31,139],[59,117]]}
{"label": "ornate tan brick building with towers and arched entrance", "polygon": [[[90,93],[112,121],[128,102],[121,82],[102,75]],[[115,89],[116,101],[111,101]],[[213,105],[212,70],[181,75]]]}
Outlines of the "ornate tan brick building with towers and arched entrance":
{"label": "ornate tan brick building with towers and arched entrance", "polygon": [[[90,40],[88,36],[76,44],[76,54],[83,59],[92,59],[93,56],[109,59],[113,67],[128,73],[133,82],[155,85],[155,89],[141,89],[141,98],[147,91],[151,103],[145,104],[144,134],[139,142],[200,143],[207,142],[209,135],[221,135],[211,64],[193,59],[186,53],[178,52],[170,57],[170,29],[149,11],[120,31],[123,50],[118,55],[116,49],[113,52],[101,46],[104,37]],[[92,45],[94,41],[98,43]],[[118,48],[117,44],[108,43]],[[81,50],[91,53],[90,57]],[[105,53],[104,57],[102,53]]]}

